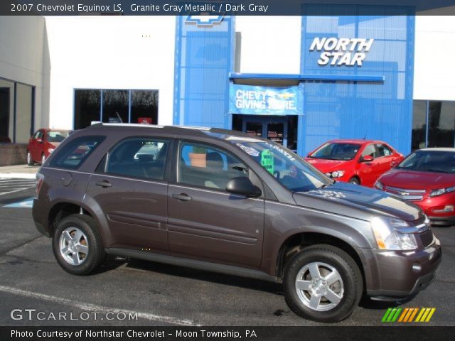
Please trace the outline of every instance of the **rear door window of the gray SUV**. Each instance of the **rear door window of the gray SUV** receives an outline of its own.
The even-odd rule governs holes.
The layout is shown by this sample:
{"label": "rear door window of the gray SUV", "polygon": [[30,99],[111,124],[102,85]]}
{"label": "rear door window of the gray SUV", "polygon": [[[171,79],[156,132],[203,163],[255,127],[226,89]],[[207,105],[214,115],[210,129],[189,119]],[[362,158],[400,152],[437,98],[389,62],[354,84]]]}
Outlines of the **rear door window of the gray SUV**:
{"label": "rear door window of the gray SUV", "polygon": [[169,141],[134,137],[126,139],[107,153],[102,173],[151,180],[164,179]]}

